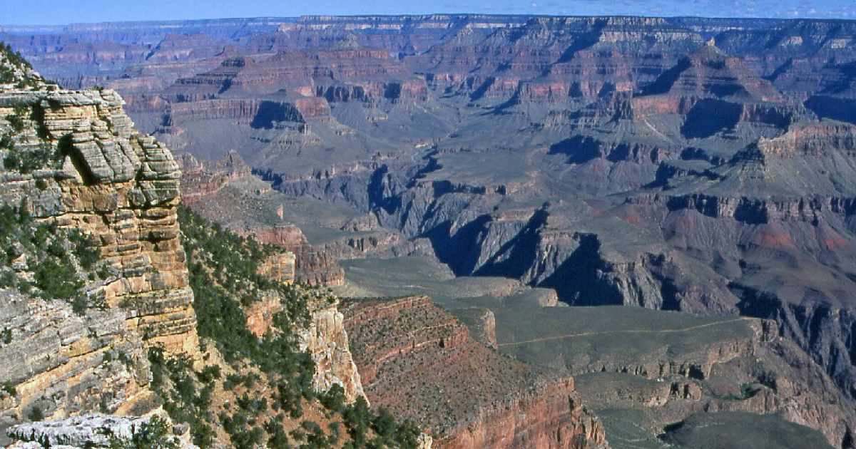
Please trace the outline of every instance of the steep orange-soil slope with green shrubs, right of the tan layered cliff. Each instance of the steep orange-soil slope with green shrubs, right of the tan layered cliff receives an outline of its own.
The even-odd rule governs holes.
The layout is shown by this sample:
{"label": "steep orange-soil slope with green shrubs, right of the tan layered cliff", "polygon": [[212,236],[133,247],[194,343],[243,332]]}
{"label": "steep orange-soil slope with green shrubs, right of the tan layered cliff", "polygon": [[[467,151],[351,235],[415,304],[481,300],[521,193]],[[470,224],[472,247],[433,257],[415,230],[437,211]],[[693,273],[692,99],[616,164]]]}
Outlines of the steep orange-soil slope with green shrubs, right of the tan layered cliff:
{"label": "steep orange-soil slope with green shrubs, right of the tan layered cliff", "polygon": [[[149,353],[152,387],[175,422],[190,424],[193,441],[210,447],[228,435],[231,446],[395,447],[417,445],[419,428],[372,412],[365,399],[347,405],[342,387],[318,393],[315,365],[300,351],[296,331],[309,324],[307,304],[330,300],[319,288],[287,285],[259,275],[257,267],[275,247],[261,245],[208,222],[187,208],[179,211],[203,344],[225,363],[208,359],[201,369],[187,357]],[[271,330],[257,338],[243,307],[276,294],[282,310]],[[217,401],[212,400],[217,398]],[[344,428],[346,432],[342,432]]]}

